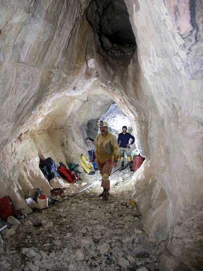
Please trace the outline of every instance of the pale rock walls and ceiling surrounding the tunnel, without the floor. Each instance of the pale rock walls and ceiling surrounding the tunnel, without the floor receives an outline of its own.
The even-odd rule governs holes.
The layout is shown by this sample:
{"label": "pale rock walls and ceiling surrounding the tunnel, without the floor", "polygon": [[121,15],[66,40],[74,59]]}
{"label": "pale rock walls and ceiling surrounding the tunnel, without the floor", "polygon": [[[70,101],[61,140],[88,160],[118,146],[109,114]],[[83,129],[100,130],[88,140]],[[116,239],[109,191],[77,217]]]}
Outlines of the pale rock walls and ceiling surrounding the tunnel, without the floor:
{"label": "pale rock walls and ceiling surrounding the tunnel, without the floor", "polygon": [[134,177],[147,233],[201,270],[202,3],[125,3],[1,2],[0,196],[29,212],[25,190],[50,189],[39,153],[78,160],[81,125],[113,100],[150,159]]}

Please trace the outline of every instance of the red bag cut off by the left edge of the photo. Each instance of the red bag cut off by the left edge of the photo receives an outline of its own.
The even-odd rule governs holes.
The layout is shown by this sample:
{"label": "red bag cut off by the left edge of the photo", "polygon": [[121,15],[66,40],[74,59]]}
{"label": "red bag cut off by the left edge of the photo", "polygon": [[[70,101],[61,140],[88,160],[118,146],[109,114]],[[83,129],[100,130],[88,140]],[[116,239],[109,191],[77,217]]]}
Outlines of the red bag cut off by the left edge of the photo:
{"label": "red bag cut off by the left edge of the photo", "polygon": [[0,199],[0,218],[7,220],[9,216],[19,217],[21,211],[16,211],[9,196]]}

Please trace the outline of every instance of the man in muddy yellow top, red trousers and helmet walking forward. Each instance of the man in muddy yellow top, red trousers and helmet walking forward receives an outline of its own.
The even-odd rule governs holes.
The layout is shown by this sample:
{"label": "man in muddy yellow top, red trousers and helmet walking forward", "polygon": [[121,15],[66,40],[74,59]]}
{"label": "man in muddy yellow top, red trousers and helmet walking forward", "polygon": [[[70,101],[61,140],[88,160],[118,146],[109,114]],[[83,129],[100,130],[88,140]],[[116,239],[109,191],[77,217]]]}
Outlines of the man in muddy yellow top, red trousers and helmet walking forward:
{"label": "man in muddy yellow top, red trousers and helmet walking forward", "polygon": [[113,165],[117,166],[119,159],[119,144],[115,135],[108,132],[109,125],[107,122],[99,122],[100,134],[95,138],[95,153],[97,159],[98,170],[102,176],[101,187],[104,191],[100,197],[103,201],[109,198],[110,180],[109,176],[112,172]]}

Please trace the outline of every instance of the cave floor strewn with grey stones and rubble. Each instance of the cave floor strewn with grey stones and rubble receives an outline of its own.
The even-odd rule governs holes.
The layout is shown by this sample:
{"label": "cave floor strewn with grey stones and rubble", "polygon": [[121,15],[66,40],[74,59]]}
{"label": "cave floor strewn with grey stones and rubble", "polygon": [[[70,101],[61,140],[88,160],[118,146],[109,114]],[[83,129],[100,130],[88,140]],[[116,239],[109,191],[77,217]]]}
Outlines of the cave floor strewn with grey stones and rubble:
{"label": "cave floor strewn with grey stones and rubble", "polygon": [[[13,235],[4,230],[0,270],[159,270],[155,245],[143,232],[139,210],[129,203],[132,174],[127,167],[111,176],[109,201],[98,198],[102,189],[97,184],[29,215],[12,226]],[[81,179],[69,188],[80,191],[100,175],[82,173]]]}

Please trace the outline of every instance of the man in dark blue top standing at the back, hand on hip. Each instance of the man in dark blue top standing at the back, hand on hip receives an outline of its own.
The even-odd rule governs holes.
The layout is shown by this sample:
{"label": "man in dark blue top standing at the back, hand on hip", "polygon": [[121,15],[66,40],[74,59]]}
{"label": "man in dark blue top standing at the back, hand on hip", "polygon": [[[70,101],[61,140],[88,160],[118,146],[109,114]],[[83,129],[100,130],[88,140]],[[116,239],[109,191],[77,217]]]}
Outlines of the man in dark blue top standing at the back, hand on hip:
{"label": "man in dark blue top standing at the back, hand on hip", "polygon": [[[118,137],[118,143],[120,147],[120,157],[121,157],[121,169],[124,169],[124,155],[126,152],[126,155],[128,157],[128,163],[130,166],[130,170],[133,171],[132,169],[132,161],[131,161],[131,151],[130,151],[130,146],[133,145],[135,142],[135,137],[132,136],[131,134],[127,133],[127,127],[123,126],[122,128],[123,132],[119,134]],[[132,139],[133,141],[129,143],[129,139]]]}

